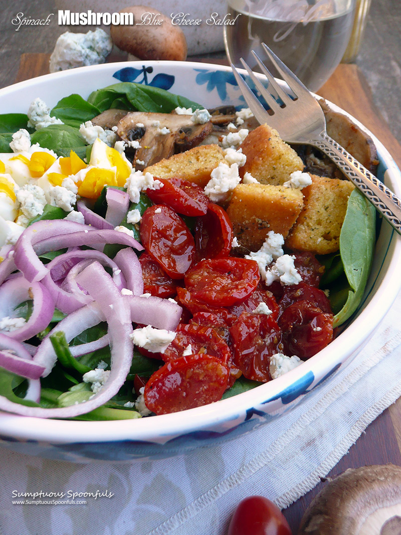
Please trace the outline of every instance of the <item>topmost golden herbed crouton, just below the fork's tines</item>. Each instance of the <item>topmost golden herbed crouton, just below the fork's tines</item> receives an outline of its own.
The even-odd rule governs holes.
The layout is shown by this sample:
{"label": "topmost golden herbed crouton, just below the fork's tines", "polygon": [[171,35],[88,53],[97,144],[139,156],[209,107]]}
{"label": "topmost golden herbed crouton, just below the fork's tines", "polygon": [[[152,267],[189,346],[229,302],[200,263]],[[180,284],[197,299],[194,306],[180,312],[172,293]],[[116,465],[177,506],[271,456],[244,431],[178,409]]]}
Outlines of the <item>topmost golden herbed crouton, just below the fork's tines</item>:
{"label": "topmost golden herbed crouton, just below the fork's tines", "polygon": [[251,173],[261,184],[280,186],[289,180],[291,173],[304,169],[295,150],[268,125],[252,130],[240,147],[246,155],[246,163],[240,169],[241,177]]}

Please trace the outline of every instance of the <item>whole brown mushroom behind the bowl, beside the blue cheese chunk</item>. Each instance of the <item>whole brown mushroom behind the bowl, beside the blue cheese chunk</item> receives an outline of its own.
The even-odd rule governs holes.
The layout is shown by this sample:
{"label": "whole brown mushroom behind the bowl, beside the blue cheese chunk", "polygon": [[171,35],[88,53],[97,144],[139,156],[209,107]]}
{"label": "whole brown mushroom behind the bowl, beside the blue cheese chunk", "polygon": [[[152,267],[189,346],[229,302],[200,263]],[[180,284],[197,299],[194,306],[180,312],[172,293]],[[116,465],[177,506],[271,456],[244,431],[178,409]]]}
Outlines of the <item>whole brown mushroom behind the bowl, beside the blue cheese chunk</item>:
{"label": "whole brown mushroom behind the bowl, beside the blue cheese chunk", "polygon": [[[184,61],[187,58],[187,41],[179,26],[154,7],[136,5],[125,7],[120,13],[133,13],[135,24],[111,25],[113,43],[140,59],[166,59]],[[141,24],[141,21],[151,24]],[[161,21],[161,24],[156,24]]]}

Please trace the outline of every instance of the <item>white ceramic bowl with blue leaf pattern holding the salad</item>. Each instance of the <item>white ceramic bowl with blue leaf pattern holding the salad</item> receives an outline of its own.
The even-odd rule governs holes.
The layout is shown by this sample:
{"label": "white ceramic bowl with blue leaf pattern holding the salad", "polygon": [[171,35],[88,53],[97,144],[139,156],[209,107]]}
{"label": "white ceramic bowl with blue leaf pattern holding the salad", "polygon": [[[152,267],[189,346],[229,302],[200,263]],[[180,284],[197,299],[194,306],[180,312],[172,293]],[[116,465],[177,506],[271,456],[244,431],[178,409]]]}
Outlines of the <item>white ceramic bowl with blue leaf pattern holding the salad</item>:
{"label": "white ceramic bowl with blue leaf pattern holding the salad", "polygon": [[[150,83],[156,74],[169,76],[159,79],[168,79],[174,93],[207,107],[227,103],[244,106],[228,67],[136,62],[81,67],[18,83],[0,90],[0,113],[26,113],[36,97],[41,97],[49,106],[71,93],[87,97],[92,90],[121,79],[142,83],[146,79]],[[363,128],[357,121],[355,123]],[[374,141],[380,158],[377,175],[401,195],[401,173],[388,151],[375,138]],[[67,461],[133,461],[168,457],[214,445],[251,432],[272,418],[285,418],[294,404],[350,362],[371,337],[401,287],[397,272],[400,261],[401,240],[383,221],[372,273],[357,314],[328,347],[274,381],[204,407],[134,421],[61,421],[2,413],[0,444],[18,452]]]}

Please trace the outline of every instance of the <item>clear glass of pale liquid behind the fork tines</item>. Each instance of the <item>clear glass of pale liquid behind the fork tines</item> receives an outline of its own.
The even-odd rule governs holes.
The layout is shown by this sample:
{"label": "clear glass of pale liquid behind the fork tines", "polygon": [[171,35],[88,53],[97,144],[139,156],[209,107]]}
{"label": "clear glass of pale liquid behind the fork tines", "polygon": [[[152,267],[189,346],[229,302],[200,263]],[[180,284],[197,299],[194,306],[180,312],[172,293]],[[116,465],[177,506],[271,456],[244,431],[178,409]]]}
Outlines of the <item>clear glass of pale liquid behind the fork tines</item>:
{"label": "clear glass of pale liquid behind the fork tines", "polygon": [[[261,42],[317,91],[341,62],[354,19],[355,0],[228,0],[224,26],[227,57],[258,71],[251,50],[265,59]],[[235,18],[237,17],[237,18]]]}

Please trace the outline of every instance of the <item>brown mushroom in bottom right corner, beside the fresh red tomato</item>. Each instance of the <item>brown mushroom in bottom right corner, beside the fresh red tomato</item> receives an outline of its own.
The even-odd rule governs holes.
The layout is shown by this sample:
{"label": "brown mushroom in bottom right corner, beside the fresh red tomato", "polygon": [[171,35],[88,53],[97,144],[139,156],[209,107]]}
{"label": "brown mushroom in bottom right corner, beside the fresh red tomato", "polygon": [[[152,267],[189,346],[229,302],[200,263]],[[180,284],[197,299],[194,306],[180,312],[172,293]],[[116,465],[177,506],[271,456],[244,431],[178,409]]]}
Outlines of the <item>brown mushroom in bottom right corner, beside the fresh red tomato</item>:
{"label": "brown mushroom in bottom right corner, beside the fresh red tomato", "polygon": [[398,535],[400,524],[401,467],[372,465],[327,483],[306,509],[298,535]]}

